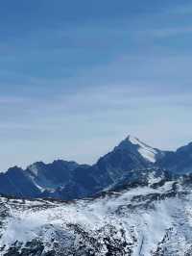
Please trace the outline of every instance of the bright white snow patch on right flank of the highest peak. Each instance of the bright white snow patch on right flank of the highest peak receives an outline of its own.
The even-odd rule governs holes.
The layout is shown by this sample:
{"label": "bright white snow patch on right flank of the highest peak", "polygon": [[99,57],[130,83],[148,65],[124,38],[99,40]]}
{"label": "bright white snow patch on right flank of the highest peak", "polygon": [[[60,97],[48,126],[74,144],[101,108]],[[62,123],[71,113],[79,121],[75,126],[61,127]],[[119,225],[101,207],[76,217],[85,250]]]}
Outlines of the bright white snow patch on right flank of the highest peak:
{"label": "bright white snow patch on right flank of the highest peak", "polygon": [[132,135],[129,135],[127,138],[128,141],[130,141],[132,144],[138,145],[138,152],[141,154],[141,156],[151,163],[156,163],[156,155],[158,154],[158,151],[147,145],[146,143],[139,141],[136,137],[133,137]]}

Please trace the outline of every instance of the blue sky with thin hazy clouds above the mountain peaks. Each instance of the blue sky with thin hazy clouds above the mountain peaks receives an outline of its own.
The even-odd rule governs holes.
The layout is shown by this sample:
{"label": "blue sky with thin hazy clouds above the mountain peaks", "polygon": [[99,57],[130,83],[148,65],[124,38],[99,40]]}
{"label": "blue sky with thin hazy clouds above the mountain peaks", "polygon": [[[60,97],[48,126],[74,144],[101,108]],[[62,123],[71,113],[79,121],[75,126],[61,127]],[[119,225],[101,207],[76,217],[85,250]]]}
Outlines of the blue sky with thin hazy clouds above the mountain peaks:
{"label": "blue sky with thin hazy clouds above the mountain peaks", "polygon": [[191,1],[2,2],[0,169],[192,141],[191,44]]}

